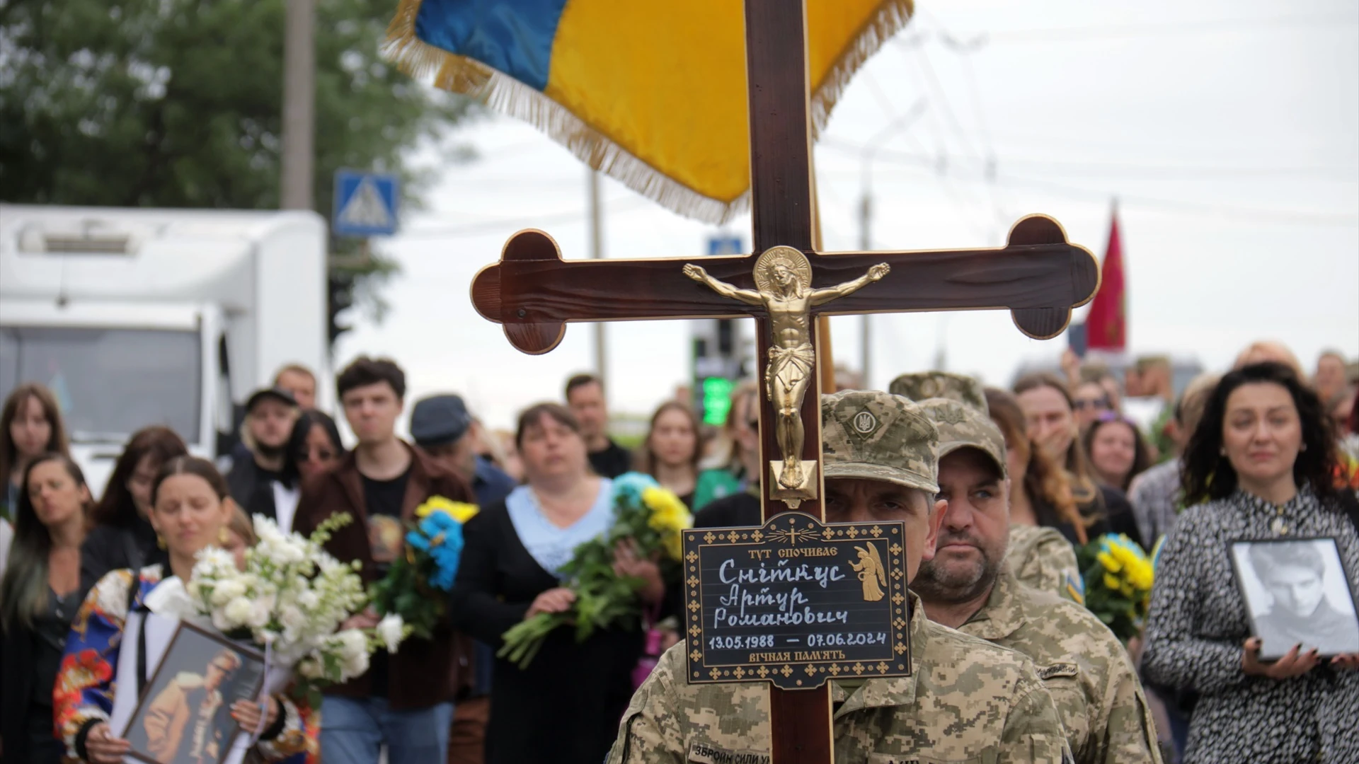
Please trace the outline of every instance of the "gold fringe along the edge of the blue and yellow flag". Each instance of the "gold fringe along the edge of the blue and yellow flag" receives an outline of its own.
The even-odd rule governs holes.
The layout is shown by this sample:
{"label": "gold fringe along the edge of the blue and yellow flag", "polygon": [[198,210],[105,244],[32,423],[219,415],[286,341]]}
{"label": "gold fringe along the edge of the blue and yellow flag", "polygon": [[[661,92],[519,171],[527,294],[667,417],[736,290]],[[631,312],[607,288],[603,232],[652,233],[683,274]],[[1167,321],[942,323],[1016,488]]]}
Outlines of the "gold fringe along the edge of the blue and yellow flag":
{"label": "gold fringe along the edge of the blue and yellow flag", "polygon": [[[476,98],[496,111],[529,122],[590,167],[686,218],[722,224],[749,209],[749,186],[731,200],[703,194],[637,158],[541,91],[480,61],[421,41],[416,37],[421,1],[400,1],[382,46],[383,56],[412,77],[428,79],[438,88]],[[859,67],[911,20],[912,12],[912,0],[885,1],[844,46],[821,83],[813,86],[813,140]]]}

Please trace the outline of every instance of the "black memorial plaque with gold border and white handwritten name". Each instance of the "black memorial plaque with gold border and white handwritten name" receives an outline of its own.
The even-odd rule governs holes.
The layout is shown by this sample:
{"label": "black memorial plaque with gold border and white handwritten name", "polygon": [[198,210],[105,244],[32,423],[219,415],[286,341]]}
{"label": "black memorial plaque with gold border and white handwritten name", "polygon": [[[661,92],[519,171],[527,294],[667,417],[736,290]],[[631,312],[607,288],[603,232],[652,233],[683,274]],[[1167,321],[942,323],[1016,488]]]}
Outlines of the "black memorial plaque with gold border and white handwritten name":
{"label": "black memorial plaque with gold border and white handwritten name", "polygon": [[684,532],[689,682],[811,689],[909,674],[904,533],[805,513]]}

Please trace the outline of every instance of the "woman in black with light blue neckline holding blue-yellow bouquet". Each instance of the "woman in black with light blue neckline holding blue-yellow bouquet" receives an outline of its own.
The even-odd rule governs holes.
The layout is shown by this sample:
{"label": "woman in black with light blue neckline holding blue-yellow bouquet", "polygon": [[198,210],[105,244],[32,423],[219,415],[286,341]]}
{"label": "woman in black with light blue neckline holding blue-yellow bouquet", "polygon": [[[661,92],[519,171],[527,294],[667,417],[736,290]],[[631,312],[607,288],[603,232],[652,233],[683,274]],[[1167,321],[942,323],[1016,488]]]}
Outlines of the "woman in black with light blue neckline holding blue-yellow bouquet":
{"label": "woman in black with light blue neckline holding blue-yellow bouquet", "polygon": [[[573,594],[559,568],[576,545],[613,522],[612,483],[590,473],[586,442],[569,411],[557,404],[530,408],[519,417],[515,443],[526,484],[467,521],[453,590],[454,625],[496,648],[510,627],[569,606]],[[624,575],[647,582],[639,591],[643,602],[662,600],[655,563],[621,566]],[[526,669],[497,659],[485,761],[603,761],[632,697],[631,674],[641,651],[636,627],[597,631],[580,643],[575,629],[559,628]]]}

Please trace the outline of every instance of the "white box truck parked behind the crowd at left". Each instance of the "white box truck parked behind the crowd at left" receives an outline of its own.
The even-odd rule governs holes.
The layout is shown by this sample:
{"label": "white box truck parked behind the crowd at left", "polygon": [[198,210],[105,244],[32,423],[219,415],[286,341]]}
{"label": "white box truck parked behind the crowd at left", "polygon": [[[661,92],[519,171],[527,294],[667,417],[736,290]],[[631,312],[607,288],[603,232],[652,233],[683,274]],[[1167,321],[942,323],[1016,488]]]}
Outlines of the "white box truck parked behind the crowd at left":
{"label": "white box truck parked behind the crowd at left", "polygon": [[102,492],[136,430],[217,457],[239,404],[300,363],[329,381],[314,212],[0,204],[0,400],[41,382]]}

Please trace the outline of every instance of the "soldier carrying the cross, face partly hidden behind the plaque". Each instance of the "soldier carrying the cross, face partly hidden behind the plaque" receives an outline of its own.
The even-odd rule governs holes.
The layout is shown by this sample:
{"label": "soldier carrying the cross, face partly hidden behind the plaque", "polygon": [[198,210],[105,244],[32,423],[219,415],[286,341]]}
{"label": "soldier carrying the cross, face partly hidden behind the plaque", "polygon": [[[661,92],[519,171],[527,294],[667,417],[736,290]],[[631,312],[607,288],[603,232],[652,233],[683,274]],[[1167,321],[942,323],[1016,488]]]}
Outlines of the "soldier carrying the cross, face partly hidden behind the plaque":
{"label": "soldier carrying the cross, face partly hidden behind the plaque", "polygon": [[[938,432],[898,396],[822,396],[826,519],[901,519],[908,580],[934,551]],[[943,628],[911,597],[911,676],[830,682],[837,764],[1065,763],[1052,696],[1033,663]],[[686,684],[684,643],[666,651],[624,715],[609,764],[769,764],[764,684]]]}

